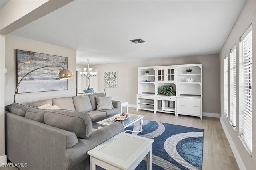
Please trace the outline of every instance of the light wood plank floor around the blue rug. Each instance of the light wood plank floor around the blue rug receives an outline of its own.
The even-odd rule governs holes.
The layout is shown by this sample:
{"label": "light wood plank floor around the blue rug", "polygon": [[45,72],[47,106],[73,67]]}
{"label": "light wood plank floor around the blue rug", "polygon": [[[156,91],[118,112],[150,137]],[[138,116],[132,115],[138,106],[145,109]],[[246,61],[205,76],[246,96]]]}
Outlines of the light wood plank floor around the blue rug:
{"label": "light wood plank floor around the blue rug", "polygon": [[[123,107],[123,110],[125,108]],[[228,139],[220,124],[220,119],[213,117],[200,117],[174,114],[156,113],[151,111],[136,111],[128,108],[128,113],[144,115],[144,119],[204,129],[203,170],[239,170]],[[18,170],[18,168],[2,168],[1,170]]]}

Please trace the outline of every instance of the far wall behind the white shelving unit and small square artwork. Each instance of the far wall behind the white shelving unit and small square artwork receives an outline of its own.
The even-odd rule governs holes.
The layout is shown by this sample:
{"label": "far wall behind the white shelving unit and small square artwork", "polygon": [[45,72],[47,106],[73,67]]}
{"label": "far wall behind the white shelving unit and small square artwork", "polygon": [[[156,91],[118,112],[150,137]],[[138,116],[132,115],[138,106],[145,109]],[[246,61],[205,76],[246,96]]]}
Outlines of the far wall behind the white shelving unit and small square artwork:
{"label": "far wall behind the white shelving unit and small square artwork", "polygon": [[156,59],[128,63],[98,64],[92,67],[98,69],[98,91],[104,88],[104,72],[117,71],[117,88],[107,88],[107,96],[114,100],[129,101],[136,105],[137,67],[165,66],[179,64],[203,64],[203,112],[220,113],[220,66],[219,55],[202,55]]}

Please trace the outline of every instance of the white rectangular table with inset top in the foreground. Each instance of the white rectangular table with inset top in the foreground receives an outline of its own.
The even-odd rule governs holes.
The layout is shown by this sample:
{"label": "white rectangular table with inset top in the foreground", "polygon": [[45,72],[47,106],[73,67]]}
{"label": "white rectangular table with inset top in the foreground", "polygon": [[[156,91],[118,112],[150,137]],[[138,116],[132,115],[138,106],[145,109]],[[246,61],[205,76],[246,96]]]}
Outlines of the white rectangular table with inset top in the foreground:
{"label": "white rectangular table with inset top in the foreground", "polygon": [[90,155],[90,170],[96,165],[106,170],[135,169],[146,156],[147,169],[152,170],[153,139],[121,132],[87,153]]}

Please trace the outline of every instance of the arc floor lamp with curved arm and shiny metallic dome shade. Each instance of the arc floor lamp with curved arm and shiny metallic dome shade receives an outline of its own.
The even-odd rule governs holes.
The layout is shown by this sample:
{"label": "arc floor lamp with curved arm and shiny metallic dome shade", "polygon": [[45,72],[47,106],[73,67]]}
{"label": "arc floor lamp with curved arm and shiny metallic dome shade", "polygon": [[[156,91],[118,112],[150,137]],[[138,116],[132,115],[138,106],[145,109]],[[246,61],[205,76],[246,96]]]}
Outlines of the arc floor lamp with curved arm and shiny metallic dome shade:
{"label": "arc floor lamp with curved arm and shiny metallic dome shade", "polygon": [[[28,74],[30,74],[30,73],[32,73],[32,72],[34,72],[34,71],[36,71],[36,70],[39,70],[39,69],[41,69],[41,68],[45,68],[45,67],[61,67],[61,68],[63,68],[63,66],[43,66],[43,67],[36,68],[36,69],[34,69],[34,70],[28,72],[27,74],[25,74],[25,75],[20,79],[20,82],[18,83],[18,85],[17,85],[17,87],[16,87],[15,94],[14,94],[14,100],[13,100],[14,103],[16,103],[16,94],[17,94],[17,92],[18,92],[18,87],[19,87],[20,83],[22,82],[22,80],[23,80]],[[68,70],[68,69],[66,69],[66,68],[63,68],[63,69],[60,71],[60,73],[59,73],[59,78],[60,78],[60,80],[66,80],[66,79],[73,78],[73,73],[72,73],[72,71],[70,71],[70,70]]]}

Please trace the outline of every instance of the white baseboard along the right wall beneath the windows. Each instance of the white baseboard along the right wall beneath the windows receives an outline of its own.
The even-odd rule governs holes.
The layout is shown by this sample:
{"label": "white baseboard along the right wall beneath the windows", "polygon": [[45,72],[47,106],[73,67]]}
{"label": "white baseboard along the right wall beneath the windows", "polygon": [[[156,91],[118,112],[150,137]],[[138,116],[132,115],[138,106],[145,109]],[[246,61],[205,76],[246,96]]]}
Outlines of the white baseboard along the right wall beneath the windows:
{"label": "white baseboard along the right wall beneath the windows", "polygon": [[222,129],[224,130],[224,132],[226,134],[226,137],[228,138],[229,145],[230,145],[230,147],[231,147],[231,149],[233,151],[233,154],[234,154],[234,156],[236,158],[236,162],[238,164],[239,169],[240,170],[245,170],[246,168],[244,166],[244,163],[243,163],[243,161],[242,161],[242,159],[241,159],[241,157],[240,157],[240,155],[238,153],[238,150],[236,149],[236,146],[235,146],[231,136],[228,133],[228,129],[226,128],[226,126],[225,126],[225,124],[224,124],[224,122],[223,122],[221,117],[220,117],[220,124],[222,125]]}

